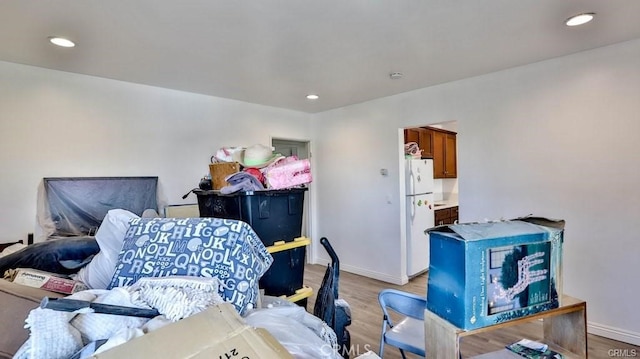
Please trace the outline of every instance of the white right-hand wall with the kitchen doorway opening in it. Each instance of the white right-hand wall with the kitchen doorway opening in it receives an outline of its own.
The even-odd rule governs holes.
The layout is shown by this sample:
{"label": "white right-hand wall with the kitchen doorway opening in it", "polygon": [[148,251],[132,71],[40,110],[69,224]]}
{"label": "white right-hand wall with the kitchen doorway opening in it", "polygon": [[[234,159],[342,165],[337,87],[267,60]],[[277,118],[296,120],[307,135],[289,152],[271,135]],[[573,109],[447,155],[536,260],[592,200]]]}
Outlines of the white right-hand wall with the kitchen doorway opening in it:
{"label": "white right-hand wall with the kitchen doorway opening in it", "polygon": [[318,232],[345,270],[405,280],[397,131],[457,120],[461,221],[565,219],[565,293],[640,345],[639,63],[636,40],[315,115]]}

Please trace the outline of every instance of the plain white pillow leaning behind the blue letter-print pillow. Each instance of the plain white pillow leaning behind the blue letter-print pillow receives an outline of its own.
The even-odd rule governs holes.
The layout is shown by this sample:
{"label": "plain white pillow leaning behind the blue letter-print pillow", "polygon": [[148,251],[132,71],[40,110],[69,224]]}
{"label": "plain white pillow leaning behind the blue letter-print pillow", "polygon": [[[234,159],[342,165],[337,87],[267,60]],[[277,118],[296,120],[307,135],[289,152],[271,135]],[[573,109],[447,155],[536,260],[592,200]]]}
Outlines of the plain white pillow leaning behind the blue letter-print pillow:
{"label": "plain white pillow leaning behind the blue letter-print pillow", "polygon": [[112,209],[107,212],[96,232],[100,252],[89,264],[80,269],[75,276],[76,280],[83,282],[91,289],[107,288],[118,263],[118,255],[129,229],[129,221],[133,218],[139,217],[124,209]]}

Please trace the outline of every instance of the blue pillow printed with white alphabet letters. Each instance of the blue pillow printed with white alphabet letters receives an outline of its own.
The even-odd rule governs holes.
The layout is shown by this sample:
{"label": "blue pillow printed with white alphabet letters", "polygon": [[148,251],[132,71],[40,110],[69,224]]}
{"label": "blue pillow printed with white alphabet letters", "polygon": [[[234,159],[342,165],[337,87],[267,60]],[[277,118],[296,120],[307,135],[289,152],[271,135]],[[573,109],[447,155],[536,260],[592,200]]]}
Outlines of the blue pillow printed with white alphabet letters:
{"label": "blue pillow printed with white alphabet letters", "polygon": [[273,257],[247,223],[222,218],[136,218],[130,221],[110,288],[142,277],[218,277],[220,295],[240,314],[258,298]]}

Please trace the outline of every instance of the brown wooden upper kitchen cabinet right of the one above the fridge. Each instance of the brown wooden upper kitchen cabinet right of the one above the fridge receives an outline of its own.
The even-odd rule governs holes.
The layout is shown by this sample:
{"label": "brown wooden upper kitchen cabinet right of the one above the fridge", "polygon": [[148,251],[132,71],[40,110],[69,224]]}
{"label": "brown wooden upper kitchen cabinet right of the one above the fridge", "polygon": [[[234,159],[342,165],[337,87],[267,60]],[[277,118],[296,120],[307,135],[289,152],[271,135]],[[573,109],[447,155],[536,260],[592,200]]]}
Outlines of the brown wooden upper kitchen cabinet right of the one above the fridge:
{"label": "brown wooden upper kitchen cabinet right of the one above the fridge", "polygon": [[456,133],[432,128],[433,178],[458,177]]}

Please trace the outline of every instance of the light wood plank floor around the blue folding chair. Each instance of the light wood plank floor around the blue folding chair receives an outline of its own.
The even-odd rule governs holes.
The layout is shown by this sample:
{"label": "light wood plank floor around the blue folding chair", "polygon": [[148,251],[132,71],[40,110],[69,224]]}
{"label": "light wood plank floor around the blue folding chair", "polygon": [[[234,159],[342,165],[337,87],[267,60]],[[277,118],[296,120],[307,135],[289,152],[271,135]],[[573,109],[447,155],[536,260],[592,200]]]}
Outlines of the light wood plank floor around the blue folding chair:
{"label": "light wood plank floor around the blue folding chair", "polygon": [[[326,270],[322,265],[307,265],[304,272],[304,282],[313,288],[313,295],[309,298],[307,310],[313,312],[315,295],[322,283],[322,277]],[[339,277],[340,297],[345,299],[351,307],[352,324],[348,327],[351,334],[352,353],[362,354],[367,350],[378,353],[380,344],[380,331],[382,328],[382,311],[378,304],[378,293],[384,288],[397,288],[420,295],[426,294],[427,275],[420,275],[404,286],[393,285],[375,279],[362,277],[356,274],[341,271]],[[587,303],[588,308],[588,303]],[[588,315],[588,313],[587,313]],[[518,341],[522,338],[533,340],[542,339],[541,323],[528,323],[517,326],[514,329],[505,329],[498,334],[483,334],[471,338],[465,338],[461,344],[463,358],[492,352],[504,348],[507,343]],[[640,357],[640,347],[589,335],[589,358],[611,358],[612,349],[635,350]],[[629,353],[629,352],[628,352]],[[378,353],[378,355],[380,355]],[[352,355],[351,357],[355,357]],[[382,355],[380,355],[382,356]],[[618,355],[620,356],[620,355]],[[416,356],[408,357],[415,358]],[[384,358],[401,358],[399,351],[390,346],[385,346]]]}

